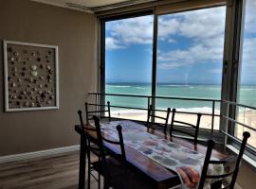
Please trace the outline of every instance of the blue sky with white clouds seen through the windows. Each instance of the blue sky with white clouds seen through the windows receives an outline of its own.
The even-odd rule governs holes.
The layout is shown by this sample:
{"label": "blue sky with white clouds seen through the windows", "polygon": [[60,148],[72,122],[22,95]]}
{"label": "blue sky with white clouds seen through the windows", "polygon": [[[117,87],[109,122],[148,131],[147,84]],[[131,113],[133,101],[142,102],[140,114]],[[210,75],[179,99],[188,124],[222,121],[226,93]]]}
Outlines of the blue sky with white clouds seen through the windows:
{"label": "blue sky with white clouds seen through the windows", "polygon": [[[256,13],[252,7],[256,9],[256,1],[251,2],[253,5],[247,6],[246,63],[241,80],[256,84],[251,69],[256,68],[256,57],[251,57],[256,44]],[[225,7],[158,16],[157,83],[221,84],[225,18]],[[106,82],[151,82],[153,24],[153,15],[106,23]]]}

